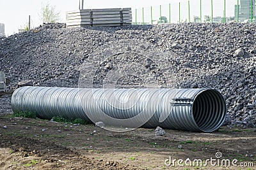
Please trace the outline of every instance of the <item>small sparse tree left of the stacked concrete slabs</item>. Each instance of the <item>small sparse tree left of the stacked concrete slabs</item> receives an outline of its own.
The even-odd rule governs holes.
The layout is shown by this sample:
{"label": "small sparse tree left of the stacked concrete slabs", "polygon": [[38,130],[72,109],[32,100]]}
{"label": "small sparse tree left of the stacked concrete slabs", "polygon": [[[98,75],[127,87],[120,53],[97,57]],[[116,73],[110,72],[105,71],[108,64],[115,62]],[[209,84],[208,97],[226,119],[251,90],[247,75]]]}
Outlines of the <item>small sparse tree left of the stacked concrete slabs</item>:
{"label": "small sparse tree left of the stacked concrete slabs", "polygon": [[54,23],[60,20],[60,12],[56,11],[55,6],[50,6],[50,4],[42,5],[40,11],[40,19],[44,23]]}

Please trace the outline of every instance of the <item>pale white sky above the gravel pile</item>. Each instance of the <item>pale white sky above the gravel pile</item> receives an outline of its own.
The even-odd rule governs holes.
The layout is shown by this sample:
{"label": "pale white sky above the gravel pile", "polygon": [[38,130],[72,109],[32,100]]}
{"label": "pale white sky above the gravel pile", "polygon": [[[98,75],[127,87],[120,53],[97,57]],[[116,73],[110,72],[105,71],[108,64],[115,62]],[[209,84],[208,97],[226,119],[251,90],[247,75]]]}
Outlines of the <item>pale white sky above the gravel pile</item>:
{"label": "pale white sky above the gravel pile", "polygon": [[[214,17],[222,17],[224,4],[223,0],[213,1]],[[234,16],[234,4],[237,0],[226,0],[226,17]],[[10,36],[17,33],[18,29],[24,27],[28,23],[29,15],[31,15],[31,27],[38,27],[40,21],[39,13],[45,4],[55,6],[56,11],[60,12],[60,22],[65,22],[67,11],[78,10],[79,0],[0,0],[0,23],[5,25],[5,34]],[[145,22],[150,22],[150,6],[152,6],[153,20],[157,20],[160,16],[166,16],[169,19],[169,4],[171,6],[171,22],[177,23],[179,20],[179,3],[180,18],[182,21],[188,20],[188,0],[84,0],[84,8],[132,8],[132,20],[142,22],[142,8],[144,11]],[[137,9],[137,17],[135,17],[135,9]],[[200,0],[190,0],[190,15],[200,16]],[[202,17],[211,15],[211,0],[202,0]]]}

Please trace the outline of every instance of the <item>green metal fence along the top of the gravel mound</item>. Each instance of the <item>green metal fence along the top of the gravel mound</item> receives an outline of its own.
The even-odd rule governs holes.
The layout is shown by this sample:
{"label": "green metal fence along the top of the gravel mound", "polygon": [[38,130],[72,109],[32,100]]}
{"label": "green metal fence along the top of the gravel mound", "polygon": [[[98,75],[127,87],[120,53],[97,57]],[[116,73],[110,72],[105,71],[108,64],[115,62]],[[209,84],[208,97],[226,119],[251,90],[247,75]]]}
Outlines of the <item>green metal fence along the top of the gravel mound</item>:
{"label": "green metal fence along the top of the gravel mound", "polygon": [[133,24],[255,22],[256,0],[169,0],[132,9]]}

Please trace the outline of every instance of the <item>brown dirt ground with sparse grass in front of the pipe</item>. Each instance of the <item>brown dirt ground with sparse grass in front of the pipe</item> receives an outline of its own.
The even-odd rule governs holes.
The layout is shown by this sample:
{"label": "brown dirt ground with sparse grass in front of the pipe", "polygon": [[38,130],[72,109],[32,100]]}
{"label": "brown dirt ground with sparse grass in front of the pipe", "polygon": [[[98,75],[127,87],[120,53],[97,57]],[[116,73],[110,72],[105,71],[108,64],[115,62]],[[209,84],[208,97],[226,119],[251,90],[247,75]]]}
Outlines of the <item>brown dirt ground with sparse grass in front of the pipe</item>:
{"label": "brown dirt ground with sparse grass in front of the pipe", "polygon": [[[156,137],[154,129],[111,132],[93,124],[2,115],[0,169],[256,169],[254,131],[228,127],[213,133],[166,129],[166,135]],[[220,162],[237,159],[237,166],[205,166],[207,159],[216,159],[217,152],[222,153]],[[168,165],[170,157],[171,162],[188,158],[203,162]],[[247,167],[239,166],[241,162]]]}

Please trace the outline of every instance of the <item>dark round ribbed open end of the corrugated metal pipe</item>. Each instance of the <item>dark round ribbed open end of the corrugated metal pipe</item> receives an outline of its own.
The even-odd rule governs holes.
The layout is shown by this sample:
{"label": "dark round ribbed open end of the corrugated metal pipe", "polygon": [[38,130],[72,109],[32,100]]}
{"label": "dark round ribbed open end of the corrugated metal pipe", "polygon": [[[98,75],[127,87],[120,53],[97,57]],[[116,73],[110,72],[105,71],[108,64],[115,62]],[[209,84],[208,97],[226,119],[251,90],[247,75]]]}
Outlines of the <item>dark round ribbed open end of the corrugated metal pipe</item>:
{"label": "dark round ribbed open end of the corrugated metal pipe", "polygon": [[193,118],[203,132],[213,132],[223,124],[226,103],[217,90],[204,90],[196,97],[192,106]]}

